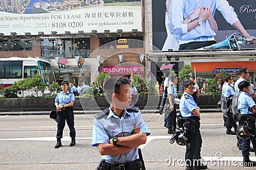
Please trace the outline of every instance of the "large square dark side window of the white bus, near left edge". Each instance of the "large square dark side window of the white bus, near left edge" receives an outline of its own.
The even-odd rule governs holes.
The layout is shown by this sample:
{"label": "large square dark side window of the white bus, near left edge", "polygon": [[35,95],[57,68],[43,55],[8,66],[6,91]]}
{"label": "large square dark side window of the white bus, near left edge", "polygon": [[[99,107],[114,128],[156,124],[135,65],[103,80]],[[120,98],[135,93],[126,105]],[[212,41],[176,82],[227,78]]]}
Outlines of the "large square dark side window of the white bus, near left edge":
{"label": "large square dark side window of the white bus, near left edge", "polygon": [[5,61],[5,78],[22,78],[22,61]]}

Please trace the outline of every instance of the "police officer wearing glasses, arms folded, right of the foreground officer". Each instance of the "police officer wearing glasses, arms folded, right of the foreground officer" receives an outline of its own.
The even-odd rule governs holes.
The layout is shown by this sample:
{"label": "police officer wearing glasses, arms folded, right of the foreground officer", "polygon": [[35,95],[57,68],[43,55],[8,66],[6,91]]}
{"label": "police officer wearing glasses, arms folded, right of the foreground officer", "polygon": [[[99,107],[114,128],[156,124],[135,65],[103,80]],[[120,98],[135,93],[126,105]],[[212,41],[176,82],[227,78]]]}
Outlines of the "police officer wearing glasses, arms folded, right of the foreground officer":
{"label": "police officer wearing glasses, arms folded, right of the foreground officer", "polygon": [[192,94],[195,89],[195,82],[184,81],[184,93],[180,99],[180,113],[184,120],[184,125],[188,129],[191,138],[191,146],[186,148],[185,161],[186,169],[207,169],[207,166],[200,162],[202,138],[200,134],[200,108],[193,100]]}

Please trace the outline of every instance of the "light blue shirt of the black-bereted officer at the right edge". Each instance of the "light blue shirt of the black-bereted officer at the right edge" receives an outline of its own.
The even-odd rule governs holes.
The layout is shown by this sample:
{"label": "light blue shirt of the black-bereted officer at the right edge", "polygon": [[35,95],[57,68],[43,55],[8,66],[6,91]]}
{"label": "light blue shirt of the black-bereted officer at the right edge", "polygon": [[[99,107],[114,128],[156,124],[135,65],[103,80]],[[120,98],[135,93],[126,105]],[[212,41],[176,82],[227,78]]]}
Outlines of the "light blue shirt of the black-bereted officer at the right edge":
{"label": "light blue shirt of the black-bereted officer at the right edge", "polygon": [[240,110],[241,114],[244,114],[244,115],[253,114],[252,111],[249,111],[249,108],[252,108],[255,105],[256,104],[253,101],[250,94],[247,94],[245,92],[240,93],[240,96],[238,98],[237,110]]}

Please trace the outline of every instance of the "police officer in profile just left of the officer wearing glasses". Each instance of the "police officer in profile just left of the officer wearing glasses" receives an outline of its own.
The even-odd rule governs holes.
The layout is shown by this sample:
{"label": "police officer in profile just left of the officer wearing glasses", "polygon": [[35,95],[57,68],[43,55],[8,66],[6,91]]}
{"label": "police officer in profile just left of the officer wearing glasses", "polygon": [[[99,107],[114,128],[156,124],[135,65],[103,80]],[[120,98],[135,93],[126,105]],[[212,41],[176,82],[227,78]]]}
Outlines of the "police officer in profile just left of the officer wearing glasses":
{"label": "police officer in profile just left of the officer wearing glasses", "polygon": [[177,77],[175,75],[170,76],[170,85],[168,85],[167,92],[168,92],[168,99],[170,103],[170,113],[168,115],[167,124],[166,127],[168,128],[168,134],[174,134],[176,129],[176,118],[177,118],[177,112],[176,112],[176,104],[175,104],[175,98],[177,98]]}

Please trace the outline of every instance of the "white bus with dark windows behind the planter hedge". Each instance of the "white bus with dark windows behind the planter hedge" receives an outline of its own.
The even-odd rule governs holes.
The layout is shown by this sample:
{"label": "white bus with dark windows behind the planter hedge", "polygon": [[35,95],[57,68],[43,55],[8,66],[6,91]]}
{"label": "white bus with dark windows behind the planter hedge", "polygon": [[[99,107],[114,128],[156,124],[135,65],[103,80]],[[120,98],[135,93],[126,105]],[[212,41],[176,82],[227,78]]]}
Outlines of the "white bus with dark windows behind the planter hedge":
{"label": "white bus with dark windows behind the planter hedge", "polygon": [[15,81],[23,78],[32,78],[40,74],[45,84],[55,82],[49,61],[40,58],[10,57],[0,58],[0,83],[2,87],[13,85]]}

